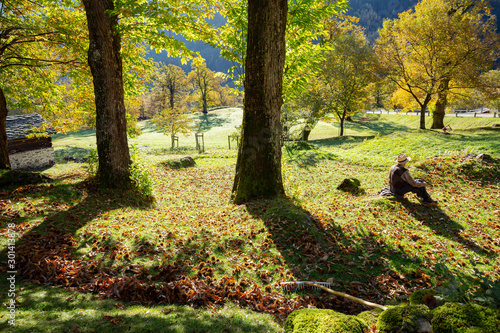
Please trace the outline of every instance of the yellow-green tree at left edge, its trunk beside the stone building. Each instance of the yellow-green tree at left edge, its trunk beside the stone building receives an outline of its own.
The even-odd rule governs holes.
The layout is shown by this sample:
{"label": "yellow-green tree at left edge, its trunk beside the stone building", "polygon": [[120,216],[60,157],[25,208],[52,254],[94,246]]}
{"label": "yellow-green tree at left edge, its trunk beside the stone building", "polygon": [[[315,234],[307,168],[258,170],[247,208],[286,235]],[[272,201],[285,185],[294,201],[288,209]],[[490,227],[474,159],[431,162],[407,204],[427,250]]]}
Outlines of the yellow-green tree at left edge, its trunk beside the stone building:
{"label": "yellow-green tree at left edge, its trunk beside the stone building", "polygon": [[10,168],[5,128],[8,105],[36,105],[36,111],[45,114],[61,106],[56,84],[61,68],[51,65],[76,63],[71,53],[59,50],[71,43],[66,23],[78,15],[69,10],[57,12],[60,6],[58,1],[0,3],[0,169]]}

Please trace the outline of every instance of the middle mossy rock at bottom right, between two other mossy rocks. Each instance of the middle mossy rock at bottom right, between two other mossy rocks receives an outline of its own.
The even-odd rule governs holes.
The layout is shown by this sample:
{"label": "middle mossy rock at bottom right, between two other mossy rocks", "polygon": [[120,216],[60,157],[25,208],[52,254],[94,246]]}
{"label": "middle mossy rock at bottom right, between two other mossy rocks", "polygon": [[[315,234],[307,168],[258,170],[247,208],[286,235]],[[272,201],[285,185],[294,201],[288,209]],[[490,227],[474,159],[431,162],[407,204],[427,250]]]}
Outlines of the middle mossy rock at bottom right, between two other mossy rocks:
{"label": "middle mossy rock at bottom right, between two other mossy rocks", "polygon": [[426,305],[403,305],[380,314],[377,329],[380,333],[433,333],[430,310]]}

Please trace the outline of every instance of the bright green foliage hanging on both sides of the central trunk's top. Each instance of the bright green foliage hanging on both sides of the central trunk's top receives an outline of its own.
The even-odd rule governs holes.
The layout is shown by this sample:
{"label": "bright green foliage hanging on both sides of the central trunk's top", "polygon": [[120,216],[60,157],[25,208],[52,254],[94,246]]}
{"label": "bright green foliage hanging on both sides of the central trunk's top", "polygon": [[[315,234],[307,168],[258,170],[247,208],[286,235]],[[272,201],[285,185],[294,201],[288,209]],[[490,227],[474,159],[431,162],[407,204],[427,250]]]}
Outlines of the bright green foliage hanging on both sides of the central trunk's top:
{"label": "bright green foliage hanging on both sides of the central trunk's top", "polygon": [[[221,57],[234,63],[235,82],[243,84],[245,76],[246,42],[248,31],[246,0],[225,1],[221,14],[227,23],[208,42],[221,49]],[[286,25],[286,59],[284,66],[283,94],[285,100],[305,89],[307,78],[321,60],[318,43],[327,35],[325,22],[347,10],[347,1],[306,0],[288,4]]]}

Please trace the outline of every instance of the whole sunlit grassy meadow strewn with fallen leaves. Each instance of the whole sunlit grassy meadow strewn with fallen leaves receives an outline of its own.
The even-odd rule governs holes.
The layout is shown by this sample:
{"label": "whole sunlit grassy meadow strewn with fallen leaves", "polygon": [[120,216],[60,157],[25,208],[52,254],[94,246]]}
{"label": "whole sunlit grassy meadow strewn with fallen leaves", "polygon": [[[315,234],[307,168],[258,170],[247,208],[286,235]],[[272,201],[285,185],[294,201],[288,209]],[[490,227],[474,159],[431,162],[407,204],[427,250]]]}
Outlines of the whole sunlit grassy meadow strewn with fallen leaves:
{"label": "whole sunlit grassy meadow strewn with fallen leaves", "polygon": [[[140,123],[143,134],[130,144],[154,184],[153,206],[98,191],[86,182],[86,163],[66,162],[89,154],[94,131],[55,135],[58,164],[42,172],[50,182],[0,188],[0,260],[14,225],[23,275],[15,281],[15,331],[282,332],[300,307],[366,310],[317,291],[285,291],[288,281],[329,281],[379,304],[434,287],[447,300],[499,306],[500,130],[493,125],[500,118],[447,117],[453,131],[443,135],[416,130],[417,116],[363,114],[346,123],[344,137],[337,123],[322,121],[309,144],[283,149],[286,198],[233,205],[237,151],[228,135],[241,114],[195,117],[204,153],[194,134],[172,150],[169,137]],[[377,196],[402,152],[438,205],[412,194]],[[481,153],[494,163],[466,159]],[[195,167],[166,166],[186,155]],[[362,191],[338,190],[345,178],[358,179]],[[2,307],[0,331],[9,318]]]}

